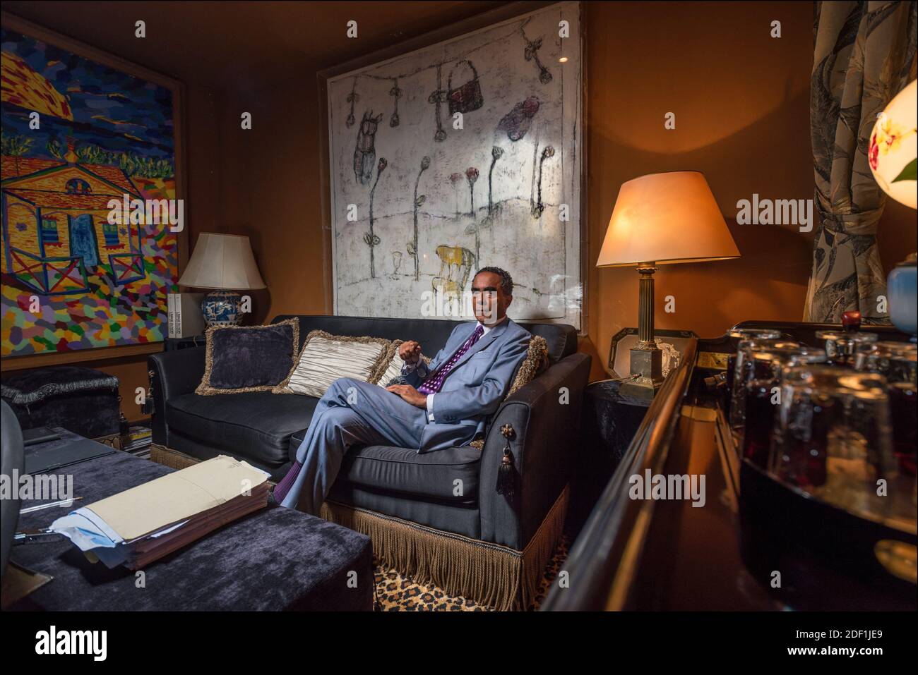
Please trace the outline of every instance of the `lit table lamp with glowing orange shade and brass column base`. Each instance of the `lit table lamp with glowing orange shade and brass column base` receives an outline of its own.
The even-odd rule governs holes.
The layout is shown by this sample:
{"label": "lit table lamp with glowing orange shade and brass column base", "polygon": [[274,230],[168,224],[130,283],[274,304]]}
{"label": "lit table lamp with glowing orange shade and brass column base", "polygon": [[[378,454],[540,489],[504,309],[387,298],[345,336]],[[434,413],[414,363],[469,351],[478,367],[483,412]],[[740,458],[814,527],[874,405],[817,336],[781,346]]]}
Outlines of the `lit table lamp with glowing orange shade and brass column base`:
{"label": "lit table lamp with glowing orange shade and brass column base", "polygon": [[739,255],[704,174],[650,173],[622,183],[596,262],[597,267],[633,266],[641,275],[633,380],[622,382],[622,394],[652,398],[663,383],[662,352],[654,340],[657,265]]}

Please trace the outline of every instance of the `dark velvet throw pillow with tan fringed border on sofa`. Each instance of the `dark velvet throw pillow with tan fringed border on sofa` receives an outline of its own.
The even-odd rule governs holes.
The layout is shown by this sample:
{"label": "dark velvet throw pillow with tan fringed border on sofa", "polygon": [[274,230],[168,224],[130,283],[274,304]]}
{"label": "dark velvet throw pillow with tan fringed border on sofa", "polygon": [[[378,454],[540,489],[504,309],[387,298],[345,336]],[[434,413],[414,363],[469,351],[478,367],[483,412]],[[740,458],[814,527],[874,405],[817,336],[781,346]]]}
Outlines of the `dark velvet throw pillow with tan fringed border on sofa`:
{"label": "dark velvet throw pillow with tan fringed border on sofa", "polygon": [[297,364],[298,319],[270,326],[212,326],[206,336],[204,377],[195,390],[204,396],[270,391]]}

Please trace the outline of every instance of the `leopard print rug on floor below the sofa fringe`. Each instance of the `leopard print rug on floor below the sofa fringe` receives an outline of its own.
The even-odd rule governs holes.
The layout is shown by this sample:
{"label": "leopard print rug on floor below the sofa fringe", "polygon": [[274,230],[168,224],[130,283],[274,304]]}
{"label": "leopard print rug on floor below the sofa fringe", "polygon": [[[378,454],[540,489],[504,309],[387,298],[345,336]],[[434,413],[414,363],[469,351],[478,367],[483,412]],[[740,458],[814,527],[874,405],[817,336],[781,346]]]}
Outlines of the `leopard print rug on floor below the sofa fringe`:
{"label": "leopard print rug on floor below the sofa fringe", "polygon": [[[539,591],[529,610],[537,610],[567,559],[568,539],[562,537],[552,559],[545,566]],[[459,595],[449,595],[438,586],[412,581],[397,570],[386,569],[374,559],[375,612],[492,612],[493,607],[478,604]]]}

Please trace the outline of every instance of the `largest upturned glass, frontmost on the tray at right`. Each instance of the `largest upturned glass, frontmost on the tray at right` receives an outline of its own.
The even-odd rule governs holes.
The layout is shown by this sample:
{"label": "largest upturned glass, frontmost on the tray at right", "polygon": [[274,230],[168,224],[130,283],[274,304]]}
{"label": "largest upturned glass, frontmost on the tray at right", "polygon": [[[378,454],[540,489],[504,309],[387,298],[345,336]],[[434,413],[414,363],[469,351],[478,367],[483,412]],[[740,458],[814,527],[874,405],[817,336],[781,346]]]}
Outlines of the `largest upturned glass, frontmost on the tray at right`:
{"label": "largest upturned glass, frontmost on the tray at right", "polygon": [[886,378],[796,365],[782,380],[767,470],[850,513],[913,529],[914,481],[892,450]]}

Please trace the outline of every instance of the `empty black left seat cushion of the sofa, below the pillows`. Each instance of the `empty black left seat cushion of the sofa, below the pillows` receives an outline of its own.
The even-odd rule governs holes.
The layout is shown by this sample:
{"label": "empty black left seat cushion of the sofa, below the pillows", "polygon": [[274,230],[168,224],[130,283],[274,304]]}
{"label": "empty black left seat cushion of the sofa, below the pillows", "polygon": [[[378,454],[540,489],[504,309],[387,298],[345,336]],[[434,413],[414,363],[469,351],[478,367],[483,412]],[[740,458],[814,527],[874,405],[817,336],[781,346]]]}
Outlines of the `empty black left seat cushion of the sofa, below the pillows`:
{"label": "empty black left seat cushion of the sofa, below the pillows", "polygon": [[319,399],[275,396],[270,392],[199,396],[185,393],[166,403],[170,428],[186,437],[252,458],[264,466],[287,461],[290,436],[309,426]]}

